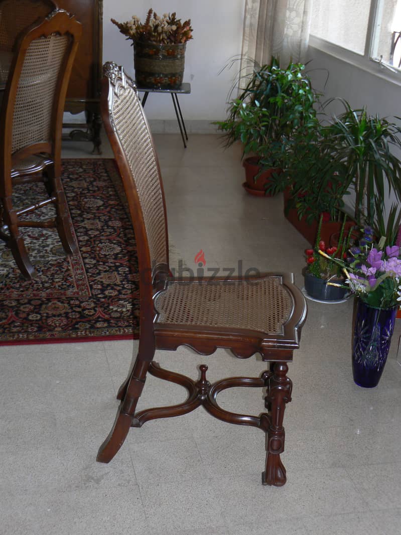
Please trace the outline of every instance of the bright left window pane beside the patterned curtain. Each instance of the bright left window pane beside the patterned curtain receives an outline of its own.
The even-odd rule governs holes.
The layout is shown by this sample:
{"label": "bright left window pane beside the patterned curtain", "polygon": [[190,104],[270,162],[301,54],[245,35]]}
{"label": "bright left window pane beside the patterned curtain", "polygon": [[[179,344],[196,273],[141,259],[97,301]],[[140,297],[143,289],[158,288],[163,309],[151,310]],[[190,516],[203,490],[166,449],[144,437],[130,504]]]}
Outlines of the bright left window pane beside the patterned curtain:
{"label": "bright left window pane beside the patterned curtain", "polygon": [[311,34],[363,55],[371,0],[313,0]]}

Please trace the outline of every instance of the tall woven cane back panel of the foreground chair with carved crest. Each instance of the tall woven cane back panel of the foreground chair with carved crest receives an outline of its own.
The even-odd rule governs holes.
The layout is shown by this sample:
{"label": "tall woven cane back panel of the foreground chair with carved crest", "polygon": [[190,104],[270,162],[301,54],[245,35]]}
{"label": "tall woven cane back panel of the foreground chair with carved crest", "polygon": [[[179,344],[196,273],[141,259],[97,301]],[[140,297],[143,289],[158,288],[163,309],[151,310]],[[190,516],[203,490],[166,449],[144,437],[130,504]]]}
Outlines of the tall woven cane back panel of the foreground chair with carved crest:
{"label": "tall woven cane back panel of the foreground chair with carved crest", "polygon": [[[107,65],[111,64],[106,64],[105,69]],[[120,72],[115,74],[121,75]],[[135,84],[124,73],[122,76],[123,83],[118,83],[111,94],[108,112],[135,180],[136,209],[142,213],[149,245],[150,266],[147,267],[154,271],[157,266],[168,265],[164,193],[156,152]]]}

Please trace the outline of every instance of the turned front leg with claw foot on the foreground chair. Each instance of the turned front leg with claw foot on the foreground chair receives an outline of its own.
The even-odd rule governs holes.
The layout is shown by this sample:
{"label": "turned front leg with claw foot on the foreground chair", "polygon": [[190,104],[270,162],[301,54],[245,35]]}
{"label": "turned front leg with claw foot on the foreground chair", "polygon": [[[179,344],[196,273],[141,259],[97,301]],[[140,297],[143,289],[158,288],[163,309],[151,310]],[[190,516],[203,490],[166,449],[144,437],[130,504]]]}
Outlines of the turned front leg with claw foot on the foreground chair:
{"label": "turned front leg with claw foot on the foreground chair", "polygon": [[271,423],[267,430],[266,469],[262,474],[264,485],[280,487],[286,483],[286,469],[280,454],[284,451],[284,409],[291,401],[292,381],[287,377],[288,366],[285,362],[276,362],[273,376],[267,385],[266,407],[271,412]]}

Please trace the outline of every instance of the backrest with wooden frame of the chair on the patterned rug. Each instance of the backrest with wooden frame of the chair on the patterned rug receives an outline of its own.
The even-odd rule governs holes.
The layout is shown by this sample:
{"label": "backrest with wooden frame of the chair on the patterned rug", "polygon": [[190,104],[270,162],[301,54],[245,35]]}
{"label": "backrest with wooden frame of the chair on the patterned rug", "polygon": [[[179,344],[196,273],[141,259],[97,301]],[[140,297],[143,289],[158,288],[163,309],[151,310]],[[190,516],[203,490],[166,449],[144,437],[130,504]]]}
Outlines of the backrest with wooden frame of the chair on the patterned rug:
{"label": "backrest with wooden frame of the chair on the patterned rug", "polygon": [[59,10],[30,28],[19,40],[5,90],[5,157],[21,149],[35,154],[43,144],[47,150],[41,152],[59,161],[65,95],[82,27]]}

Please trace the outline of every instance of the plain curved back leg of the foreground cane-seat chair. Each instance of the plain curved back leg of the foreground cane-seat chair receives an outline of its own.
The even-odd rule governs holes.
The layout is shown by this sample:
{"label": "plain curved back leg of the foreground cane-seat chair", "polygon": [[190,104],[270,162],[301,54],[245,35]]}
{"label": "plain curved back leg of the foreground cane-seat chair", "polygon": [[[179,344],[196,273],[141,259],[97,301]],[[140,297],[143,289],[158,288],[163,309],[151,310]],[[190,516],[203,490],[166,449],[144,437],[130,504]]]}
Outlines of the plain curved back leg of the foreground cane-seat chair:
{"label": "plain curved back leg of the foreground cane-seat chair", "polygon": [[124,398],[117,410],[117,416],[115,417],[113,427],[109,435],[107,435],[106,440],[99,448],[96,458],[98,462],[109,463],[121,448],[122,444],[124,444],[132,424],[138,399],[140,398],[145,384],[146,373],[149,370],[153,354],[149,361],[144,361],[141,358],[141,353],[138,353],[134,368],[130,373],[128,381],[126,381],[127,385]]}

